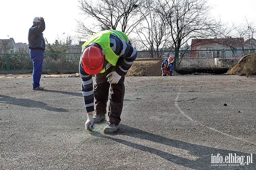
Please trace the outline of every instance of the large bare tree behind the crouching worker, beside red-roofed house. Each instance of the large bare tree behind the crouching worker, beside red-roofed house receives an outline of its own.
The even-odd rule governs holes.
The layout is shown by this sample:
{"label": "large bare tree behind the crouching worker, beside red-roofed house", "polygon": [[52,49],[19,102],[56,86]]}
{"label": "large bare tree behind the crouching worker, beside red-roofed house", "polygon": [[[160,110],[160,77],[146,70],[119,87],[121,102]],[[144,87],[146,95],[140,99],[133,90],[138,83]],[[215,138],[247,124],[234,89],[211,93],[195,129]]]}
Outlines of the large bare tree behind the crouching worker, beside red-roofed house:
{"label": "large bare tree behind the crouching worker, beside red-roofed house", "polygon": [[[179,51],[189,39],[209,37],[220,26],[204,0],[158,0],[161,18],[168,22],[175,51]],[[179,54],[176,52],[176,61]],[[181,58],[179,58],[181,61]]]}

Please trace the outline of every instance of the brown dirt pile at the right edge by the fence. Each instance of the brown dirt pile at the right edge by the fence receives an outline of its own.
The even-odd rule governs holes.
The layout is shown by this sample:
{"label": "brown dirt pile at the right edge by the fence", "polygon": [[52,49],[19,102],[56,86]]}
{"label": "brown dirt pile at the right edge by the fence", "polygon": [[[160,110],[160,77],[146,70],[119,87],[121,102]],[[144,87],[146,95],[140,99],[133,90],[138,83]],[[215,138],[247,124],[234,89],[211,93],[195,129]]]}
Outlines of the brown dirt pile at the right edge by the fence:
{"label": "brown dirt pile at the right edge by the fence", "polygon": [[242,57],[238,63],[232,65],[226,75],[253,74],[256,72],[256,53]]}

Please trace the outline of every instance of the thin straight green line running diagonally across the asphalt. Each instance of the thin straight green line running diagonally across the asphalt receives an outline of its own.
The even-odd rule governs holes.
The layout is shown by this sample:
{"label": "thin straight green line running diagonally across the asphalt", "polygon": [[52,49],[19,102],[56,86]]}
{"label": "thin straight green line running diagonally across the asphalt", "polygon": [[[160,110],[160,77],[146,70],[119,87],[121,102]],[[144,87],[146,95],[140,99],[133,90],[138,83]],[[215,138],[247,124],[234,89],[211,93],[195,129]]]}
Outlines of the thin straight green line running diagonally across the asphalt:
{"label": "thin straight green line running diagonally across the asphalt", "polygon": [[[166,78],[166,77],[164,77]],[[139,97],[141,97],[144,93],[146,93],[151,86],[156,85],[158,82],[162,81],[164,78],[161,78],[160,80],[158,80],[157,82],[155,82],[154,84],[151,84],[150,86],[148,86],[148,88],[146,88],[143,92],[141,92],[140,95],[138,95],[137,97],[135,97],[132,101],[130,101],[127,105],[125,105],[124,108],[126,108],[127,106],[129,106],[131,103],[133,103],[134,101],[136,101]],[[122,110],[123,110],[122,109]],[[60,160],[62,160],[65,156],[67,156],[70,152],[72,152],[75,148],[77,148],[81,143],[83,143],[86,139],[88,139],[91,135],[93,135],[94,133],[96,133],[97,131],[99,131],[100,129],[102,129],[102,127],[107,124],[108,122],[105,122],[104,124],[102,124],[97,130],[92,131],[92,133],[90,135],[88,135],[84,140],[82,140],[79,144],[77,144],[75,147],[73,147],[69,152],[67,152],[65,155],[63,155],[59,160],[57,160],[55,163],[53,163],[48,169],[50,169],[51,167],[53,167],[55,164],[57,164]],[[47,169],[47,170],[48,170]]]}

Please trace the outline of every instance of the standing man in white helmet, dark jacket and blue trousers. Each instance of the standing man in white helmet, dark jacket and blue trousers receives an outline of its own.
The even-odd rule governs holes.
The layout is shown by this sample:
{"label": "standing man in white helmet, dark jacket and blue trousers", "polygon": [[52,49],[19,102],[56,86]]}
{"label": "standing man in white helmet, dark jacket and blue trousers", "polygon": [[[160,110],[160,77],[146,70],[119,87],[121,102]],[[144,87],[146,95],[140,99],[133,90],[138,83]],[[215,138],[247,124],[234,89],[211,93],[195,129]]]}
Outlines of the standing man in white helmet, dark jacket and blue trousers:
{"label": "standing man in white helmet, dark jacket and blue trousers", "polygon": [[33,25],[28,31],[28,48],[30,49],[30,58],[33,61],[33,90],[44,90],[43,87],[40,87],[45,50],[45,41],[42,33],[44,30],[44,18],[34,18]]}

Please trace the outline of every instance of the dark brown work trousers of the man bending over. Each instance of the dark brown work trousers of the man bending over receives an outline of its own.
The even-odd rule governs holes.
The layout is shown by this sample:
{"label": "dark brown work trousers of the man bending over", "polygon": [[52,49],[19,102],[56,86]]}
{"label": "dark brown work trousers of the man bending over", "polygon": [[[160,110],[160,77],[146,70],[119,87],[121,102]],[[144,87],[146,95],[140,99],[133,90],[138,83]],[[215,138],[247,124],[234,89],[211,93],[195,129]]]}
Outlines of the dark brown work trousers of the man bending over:
{"label": "dark brown work trousers of the man bending over", "polygon": [[[95,111],[97,115],[105,115],[107,102],[109,97],[108,106],[108,118],[107,121],[119,124],[121,122],[121,112],[123,109],[123,98],[125,94],[123,75],[118,83],[110,84],[106,76],[115,71],[115,68],[111,66],[104,73],[95,75],[96,84],[94,84],[94,99],[95,99]],[[109,92],[110,88],[110,92]]]}

